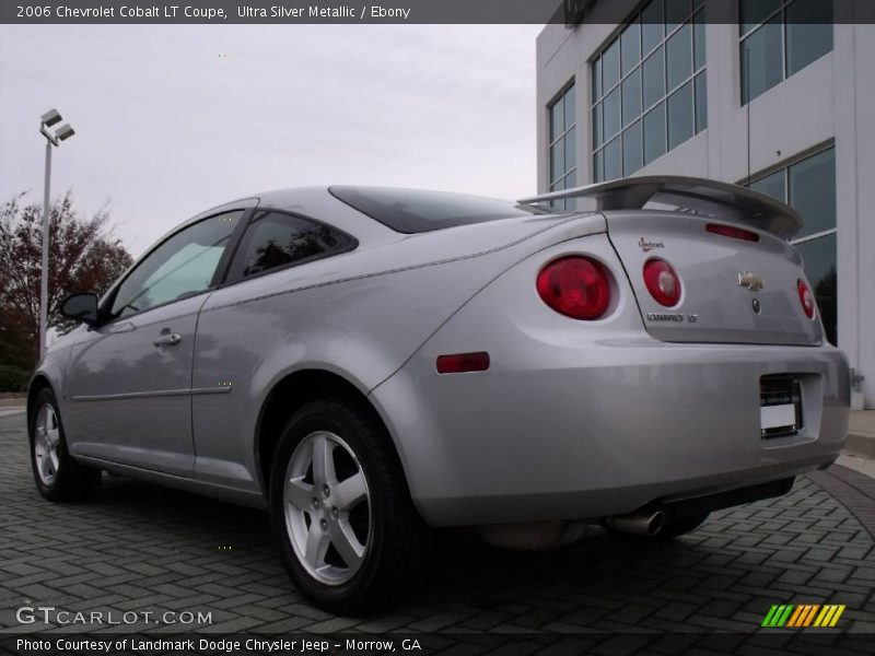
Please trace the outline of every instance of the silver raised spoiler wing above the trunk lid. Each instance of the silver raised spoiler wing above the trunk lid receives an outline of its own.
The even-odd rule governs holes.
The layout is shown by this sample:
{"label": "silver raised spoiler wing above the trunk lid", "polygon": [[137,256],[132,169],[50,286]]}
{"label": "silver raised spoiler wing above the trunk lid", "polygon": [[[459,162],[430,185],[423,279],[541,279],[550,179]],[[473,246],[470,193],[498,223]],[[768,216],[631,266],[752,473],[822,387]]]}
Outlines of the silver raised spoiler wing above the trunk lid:
{"label": "silver raised spoiler wing above the trunk lid", "polygon": [[790,239],[802,227],[802,216],[790,206],[738,185],[679,175],[649,175],[586,185],[523,198],[537,204],[564,198],[595,201],[595,210],[640,210],[648,202],[672,206],[697,214],[726,219]]}

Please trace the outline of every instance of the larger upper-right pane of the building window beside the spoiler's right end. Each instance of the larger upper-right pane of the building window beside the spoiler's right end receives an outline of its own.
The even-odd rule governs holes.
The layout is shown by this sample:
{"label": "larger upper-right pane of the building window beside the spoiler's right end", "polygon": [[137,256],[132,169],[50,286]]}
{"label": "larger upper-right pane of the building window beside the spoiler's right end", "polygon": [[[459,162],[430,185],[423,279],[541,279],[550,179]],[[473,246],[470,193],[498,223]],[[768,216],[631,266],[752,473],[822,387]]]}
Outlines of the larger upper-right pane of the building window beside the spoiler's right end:
{"label": "larger upper-right pane of the building window beside the spoiler's right end", "polygon": [[790,204],[802,214],[796,238],[836,227],[836,151],[793,164],[789,168]]}

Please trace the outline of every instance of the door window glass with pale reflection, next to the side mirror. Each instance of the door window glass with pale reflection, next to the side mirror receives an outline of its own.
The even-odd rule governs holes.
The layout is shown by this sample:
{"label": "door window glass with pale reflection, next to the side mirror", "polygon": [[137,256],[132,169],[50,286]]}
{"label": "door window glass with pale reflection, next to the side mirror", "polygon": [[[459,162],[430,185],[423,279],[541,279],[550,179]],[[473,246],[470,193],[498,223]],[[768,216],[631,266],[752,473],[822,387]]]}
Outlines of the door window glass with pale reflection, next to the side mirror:
{"label": "door window glass with pale reflection, next to the side mirror", "polygon": [[210,288],[243,210],[205,219],[161,244],[131,271],[113,301],[113,318],[199,294]]}

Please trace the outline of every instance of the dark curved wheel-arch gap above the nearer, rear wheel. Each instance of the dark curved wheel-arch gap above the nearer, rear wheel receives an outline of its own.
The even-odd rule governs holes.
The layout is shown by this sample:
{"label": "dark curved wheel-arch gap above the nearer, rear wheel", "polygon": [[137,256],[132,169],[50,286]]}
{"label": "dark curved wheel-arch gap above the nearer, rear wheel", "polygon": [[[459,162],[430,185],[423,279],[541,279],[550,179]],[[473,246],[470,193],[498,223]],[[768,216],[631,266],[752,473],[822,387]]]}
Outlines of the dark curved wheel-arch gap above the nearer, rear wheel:
{"label": "dark curved wheel-arch gap above the nearer, rear wheel", "polygon": [[389,436],[395,455],[401,462],[405,478],[408,477],[389,422],[384,420],[365,391],[335,372],[322,368],[299,370],[285,375],[273,385],[258,412],[255,425],[255,461],[265,499],[269,495],[270,466],[283,424],[305,403],[329,397],[347,399],[358,405],[381,423]]}

